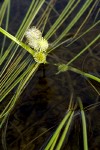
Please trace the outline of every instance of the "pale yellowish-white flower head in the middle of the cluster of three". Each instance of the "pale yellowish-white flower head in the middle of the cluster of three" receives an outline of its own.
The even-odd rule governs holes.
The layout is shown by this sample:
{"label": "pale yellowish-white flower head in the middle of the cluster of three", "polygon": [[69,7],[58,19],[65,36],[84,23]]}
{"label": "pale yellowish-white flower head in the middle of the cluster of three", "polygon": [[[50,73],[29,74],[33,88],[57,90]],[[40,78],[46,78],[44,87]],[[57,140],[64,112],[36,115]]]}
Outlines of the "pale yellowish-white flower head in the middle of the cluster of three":
{"label": "pale yellowish-white flower head in the middle of the cluster of three", "polygon": [[38,40],[38,44],[39,44],[40,51],[42,52],[45,52],[49,47],[48,41],[43,37]]}

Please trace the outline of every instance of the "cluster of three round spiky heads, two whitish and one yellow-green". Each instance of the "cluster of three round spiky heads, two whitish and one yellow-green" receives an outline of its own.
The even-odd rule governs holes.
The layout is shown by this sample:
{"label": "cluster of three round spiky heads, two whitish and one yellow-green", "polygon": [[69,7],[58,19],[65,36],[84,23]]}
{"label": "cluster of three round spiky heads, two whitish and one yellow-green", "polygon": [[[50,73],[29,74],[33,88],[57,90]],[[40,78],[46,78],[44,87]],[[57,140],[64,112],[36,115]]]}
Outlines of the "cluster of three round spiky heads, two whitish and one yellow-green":
{"label": "cluster of three round spiky heads, two whitish and one yellow-green", "polygon": [[38,63],[46,62],[46,50],[49,47],[48,41],[42,37],[42,33],[36,27],[31,27],[25,32],[28,45],[33,48],[36,53],[34,60]]}

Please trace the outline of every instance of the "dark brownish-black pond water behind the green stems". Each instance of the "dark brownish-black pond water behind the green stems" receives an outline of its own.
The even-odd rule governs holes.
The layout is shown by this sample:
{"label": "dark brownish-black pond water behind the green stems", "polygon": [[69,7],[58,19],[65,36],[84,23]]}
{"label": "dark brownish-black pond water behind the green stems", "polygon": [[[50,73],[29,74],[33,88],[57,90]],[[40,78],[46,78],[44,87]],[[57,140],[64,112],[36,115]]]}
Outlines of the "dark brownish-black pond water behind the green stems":
{"label": "dark brownish-black pond water behind the green stems", "polygon": [[[31,0],[12,1],[12,16],[10,18],[8,30],[11,34],[14,35],[18,30],[21,21],[28,10],[30,2]],[[82,3],[84,3],[84,1]],[[76,12],[80,9],[82,3],[80,3]],[[57,1],[55,8],[58,13],[61,12],[65,4],[66,0]],[[87,29],[93,22],[95,17],[94,14],[97,9],[98,7],[96,7],[94,13],[91,14],[91,17],[88,23],[85,25],[84,30]],[[83,15],[83,18],[79,20],[78,24],[76,24],[76,26],[74,26],[74,28],[70,31],[70,34],[68,36],[66,35],[65,38],[73,36],[80,23],[83,21],[84,17],[86,17],[86,13]],[[68,22],[70,22],[70,19],[73,17],[74,14],[72,14],[69,20],[63,24],[61,30],[63,30],[63,28],[68,24]],[[37,16],[37,18],[39,18],[39,16]],[[56,18],[57,14],[54,16],[52,13],[49,21],[52,23]],[[59,35],[60,32],[58,32],[56,36]],[[55,51],[50,53],[47,58],[50,64],[41,65],[39,67],[39,70],[31,79],[31,82],[24,90],[9,117],[6,133],[7,150],[43,150],[44,145],[52,136],[55,129],[67,112],[72,93],[74,94],[73,101],[76,101],[76,97],[80,96],[84,107],[100,101],[98,94],[85,78],[72,72],[64,72],[56,75],[58,70],[57,67],[54,66],[54,63],[68,62],[80,50],[82,50],[86,45],[86,42],[89,43],[98,32],[99,27],[96,27],[86,36],[84,36],[83,39],[78,40],[71,46],[66,47],[66,44],[64,44],[63,46],[57,48]],[[53,39],[50,40],[50,42],[52,42]],[[86,52],[79,59],[77,59],[73,65],[77,66],[77,68],[83,69],[84,71],[96,73],[100,77],[100,52],[98,52],[98,49],[99,46],[93,47],[92,54],[91,51]],[[100,85],[98,83],[94,81],[90,82],[92,82],[98,91],[100,91]],[[13,93],[14,91],[12,91],[10,94],[12,95]],[[7,99],[10,99],[10,94]],[[100,107],[86,111],[86,119],[89,150],[99,150]],[[4,132],[4,130],[2,132]],[[0,149],[3,150],[2,144]],[[66,149],[83,149],[80,114],[74,117],[74,121],[70,128],[68,141],[67,143],[65,141],[63,146],[63,150]]]}

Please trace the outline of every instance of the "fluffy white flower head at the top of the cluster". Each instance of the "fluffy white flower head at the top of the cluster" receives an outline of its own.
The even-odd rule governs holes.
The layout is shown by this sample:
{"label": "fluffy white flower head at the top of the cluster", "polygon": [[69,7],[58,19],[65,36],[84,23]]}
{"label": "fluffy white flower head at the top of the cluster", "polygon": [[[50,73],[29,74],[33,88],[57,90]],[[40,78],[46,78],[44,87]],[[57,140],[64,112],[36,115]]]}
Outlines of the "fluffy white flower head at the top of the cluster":
{"label": "fluffy white flower head at the top of the cluster", "polygon": [[30,41],[32,39],[40,39],[42,37],[42,33],[40,30],[33,26],[25,32],[25,36],[27,40]]}

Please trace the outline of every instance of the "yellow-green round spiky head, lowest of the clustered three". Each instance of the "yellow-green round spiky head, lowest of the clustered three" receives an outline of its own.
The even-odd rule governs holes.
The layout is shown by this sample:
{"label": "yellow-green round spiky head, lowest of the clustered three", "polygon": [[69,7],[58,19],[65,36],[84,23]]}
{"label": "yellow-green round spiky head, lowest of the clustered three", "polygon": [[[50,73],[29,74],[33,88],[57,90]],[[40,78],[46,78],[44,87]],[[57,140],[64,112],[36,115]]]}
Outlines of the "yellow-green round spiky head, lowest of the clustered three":
{"label": "yellow-green round spiky head, lowest of the clustered three", "polygon": [[46,62],[46,55],[43,52],[36,52],[34,54],[34,60],[37,63],[45,63]]}

